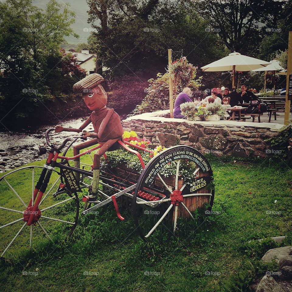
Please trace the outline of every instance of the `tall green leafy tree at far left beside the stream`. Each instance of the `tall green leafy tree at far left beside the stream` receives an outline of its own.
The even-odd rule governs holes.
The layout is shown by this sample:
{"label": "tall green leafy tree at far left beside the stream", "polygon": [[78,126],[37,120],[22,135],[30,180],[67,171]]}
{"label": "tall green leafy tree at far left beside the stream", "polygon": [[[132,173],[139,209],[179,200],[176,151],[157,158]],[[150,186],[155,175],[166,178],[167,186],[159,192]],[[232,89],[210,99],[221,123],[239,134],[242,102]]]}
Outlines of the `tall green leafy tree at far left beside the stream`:
{"label": "tall green leafy tree at far left beside the stream", "polygon": [[70,60],[60,53],[60,44],[74,34],[70,25],[75,14],[68,7],[55,0],[45,11],[32,0],[0,2],[0,112],[5,122],[35,121],[40,105],[54,96],[63,94],[63,99],[84,76],[81,71],[64,73],[62,67]]}

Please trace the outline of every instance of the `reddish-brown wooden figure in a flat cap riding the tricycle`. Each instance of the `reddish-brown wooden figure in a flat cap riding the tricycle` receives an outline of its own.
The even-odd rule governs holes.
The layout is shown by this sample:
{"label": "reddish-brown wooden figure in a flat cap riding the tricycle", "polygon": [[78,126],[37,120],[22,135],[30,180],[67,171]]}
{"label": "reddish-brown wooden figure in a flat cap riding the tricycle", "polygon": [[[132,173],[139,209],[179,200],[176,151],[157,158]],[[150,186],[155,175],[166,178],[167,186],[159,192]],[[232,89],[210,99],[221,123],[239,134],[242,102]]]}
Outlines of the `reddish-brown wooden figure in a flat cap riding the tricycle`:
{"label": "reddish-brown wooden figure in a flat cap riding the tricycle", "polygon": [[[96,199],[99,186],[99,168],[101,156],[109,150],[123,135],[123,127],[119,115],[113,110],[106,107],[107,94],[103,89],[101,82],[104,78],[97,74],[90,74],[73,85],[75,93],[82,93],[86,106],[92,111],[89,118],[78,128],[64,128],[61,125],[55,127],[57,133],[62,131],[77,132],[82,130],[83,137],[92,137],[90,141],[83,142],[74,146],[74,156],[79,155],[80,150],[90,147],[95,144],[101,144],[101,148],[94,155],[93,159],[93,181],[92,181],[92,195],[90,200]],[[92,123],[95,133],[85,131]],[[75,158],[74,166],[80,168],[80,159]],[[79,175],[76,176],[79,180]]]}

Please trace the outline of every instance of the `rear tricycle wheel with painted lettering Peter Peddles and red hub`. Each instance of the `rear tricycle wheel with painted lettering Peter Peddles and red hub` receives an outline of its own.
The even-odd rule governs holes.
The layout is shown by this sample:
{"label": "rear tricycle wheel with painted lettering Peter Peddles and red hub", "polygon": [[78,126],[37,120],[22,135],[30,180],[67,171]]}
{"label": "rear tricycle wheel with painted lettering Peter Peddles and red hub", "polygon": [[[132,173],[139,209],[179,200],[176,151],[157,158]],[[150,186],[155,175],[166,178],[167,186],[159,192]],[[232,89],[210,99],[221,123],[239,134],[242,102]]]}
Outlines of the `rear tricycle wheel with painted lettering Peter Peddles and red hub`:
{"label": "rear tricycle wheel with painted lettering Peter Peddles and red hub", "polygon": [[177,229],[178,218],[195,220],[197,208],[211,210],[213,172],[196,149],[179,145],[154,156],[143,170],[133,197],[135,224],[146,240],[157,228]]}

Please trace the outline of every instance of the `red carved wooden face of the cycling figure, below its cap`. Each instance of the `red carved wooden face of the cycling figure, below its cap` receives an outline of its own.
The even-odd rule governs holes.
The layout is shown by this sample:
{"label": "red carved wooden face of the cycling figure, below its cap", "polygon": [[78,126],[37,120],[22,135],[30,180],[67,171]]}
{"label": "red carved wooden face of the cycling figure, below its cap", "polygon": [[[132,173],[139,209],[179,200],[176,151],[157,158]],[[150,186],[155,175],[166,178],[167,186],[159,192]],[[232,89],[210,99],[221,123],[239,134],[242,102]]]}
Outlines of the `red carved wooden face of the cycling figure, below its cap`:
{"label": "red carved wooden face of the cycling figure, below its cap", "polygon": [[107,94],[101,85],[96,85],[91,89],[85,89],[82,96],[86,106],[91,111],[98,111],[107,103]]}

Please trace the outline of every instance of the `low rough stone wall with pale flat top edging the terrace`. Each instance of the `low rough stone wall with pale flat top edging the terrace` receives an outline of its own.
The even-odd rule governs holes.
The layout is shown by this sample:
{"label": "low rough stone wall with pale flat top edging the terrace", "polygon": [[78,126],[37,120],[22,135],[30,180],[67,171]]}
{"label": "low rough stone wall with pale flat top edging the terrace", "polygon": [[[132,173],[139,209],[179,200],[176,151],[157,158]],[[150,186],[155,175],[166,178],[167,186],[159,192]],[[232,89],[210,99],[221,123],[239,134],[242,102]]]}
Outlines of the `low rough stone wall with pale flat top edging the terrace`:
{"label": "low rough stone wall with pale flat top edging the terrace", "polygon": [[125,131],[133,130],[152,145],[165,147],[189,145],[202,153],[216,156],[239,157],[271,154],[265,140],[277,135],[283,126],[278,123],[252,123],[238,121],[201,122],[170,119],[169,110],[144,113],[122,121]]}

